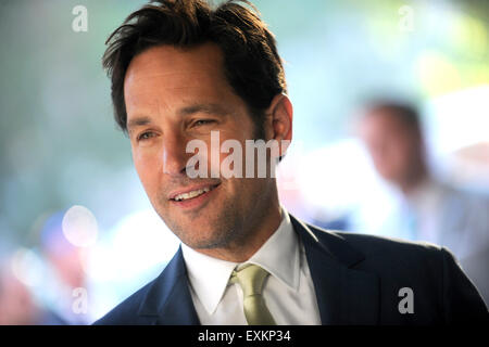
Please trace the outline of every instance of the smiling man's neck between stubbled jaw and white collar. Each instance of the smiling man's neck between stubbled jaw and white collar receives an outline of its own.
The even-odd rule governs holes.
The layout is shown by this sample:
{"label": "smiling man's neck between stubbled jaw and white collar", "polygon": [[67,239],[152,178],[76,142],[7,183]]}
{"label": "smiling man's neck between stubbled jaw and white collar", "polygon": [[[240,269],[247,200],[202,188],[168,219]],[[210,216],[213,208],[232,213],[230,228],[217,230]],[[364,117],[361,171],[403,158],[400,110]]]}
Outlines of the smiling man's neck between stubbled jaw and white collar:
{"label": "smiling man's neck between stubbled jaw and white collar", "polygon": [[204,255],[233,262],[244,262],[255,254],[263,244],[274,234],[281,222],[281,209],[278,201],[278,192],[274,185],[272,198],[266,203],[254,206],[253,213],[246,216],[242,228],[243,237],[235,240],[226,247],[198,248]]}

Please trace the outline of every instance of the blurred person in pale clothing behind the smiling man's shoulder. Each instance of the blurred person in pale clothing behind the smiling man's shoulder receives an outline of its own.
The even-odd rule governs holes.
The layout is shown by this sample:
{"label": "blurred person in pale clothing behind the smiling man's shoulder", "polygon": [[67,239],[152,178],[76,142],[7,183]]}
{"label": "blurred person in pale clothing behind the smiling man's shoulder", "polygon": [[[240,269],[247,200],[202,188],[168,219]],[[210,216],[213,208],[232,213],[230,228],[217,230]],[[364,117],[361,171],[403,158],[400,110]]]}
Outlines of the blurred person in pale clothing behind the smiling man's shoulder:
{"label": "blurred person in pale clothing behind the smiling man's shoulder", "polygon": [[[359,134],[378,175],[392,188],[390,206],[372,207],[359,231],[451,249],[486,301],[489,299],[489,200],[451,187],[429,170],[417,111],[377,101],[364,107]],[[463,129],[461,129],[463,131]],[[368,223],[368,215],[375,223]]]}

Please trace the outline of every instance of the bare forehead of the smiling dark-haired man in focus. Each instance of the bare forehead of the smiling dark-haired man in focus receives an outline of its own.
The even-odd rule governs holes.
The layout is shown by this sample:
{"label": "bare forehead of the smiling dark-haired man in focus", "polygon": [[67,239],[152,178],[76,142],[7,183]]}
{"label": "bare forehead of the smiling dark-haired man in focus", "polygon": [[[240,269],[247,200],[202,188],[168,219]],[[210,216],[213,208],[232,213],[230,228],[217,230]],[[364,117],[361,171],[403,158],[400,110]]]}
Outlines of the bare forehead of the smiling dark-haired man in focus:
{"label": "bare forehead of the smiling dark-haired man in focus", "polygon": [[225,77],[223,62],[215,43],[190,49],[159,46],[138,54],[124,82],[127,121],[141,115],[181,119],[173,116],[196,104],[244,111],[244,102]]}

